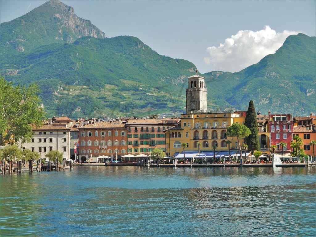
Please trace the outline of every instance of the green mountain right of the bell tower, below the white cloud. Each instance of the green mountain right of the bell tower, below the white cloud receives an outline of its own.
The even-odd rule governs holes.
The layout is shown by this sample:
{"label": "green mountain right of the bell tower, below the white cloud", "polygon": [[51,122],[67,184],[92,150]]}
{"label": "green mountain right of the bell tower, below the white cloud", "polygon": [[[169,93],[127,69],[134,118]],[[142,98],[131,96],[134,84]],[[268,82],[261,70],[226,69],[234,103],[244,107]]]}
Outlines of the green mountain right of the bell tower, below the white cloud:
{"label": "green mountain right of the bell tower, below the white cloud", "polygon": [[253,100],[257,110],[309,115],[316,107],[316,37],[290,35],[275,54],[240,72],[204,74],[211,96],[232,107],[247,110]]}

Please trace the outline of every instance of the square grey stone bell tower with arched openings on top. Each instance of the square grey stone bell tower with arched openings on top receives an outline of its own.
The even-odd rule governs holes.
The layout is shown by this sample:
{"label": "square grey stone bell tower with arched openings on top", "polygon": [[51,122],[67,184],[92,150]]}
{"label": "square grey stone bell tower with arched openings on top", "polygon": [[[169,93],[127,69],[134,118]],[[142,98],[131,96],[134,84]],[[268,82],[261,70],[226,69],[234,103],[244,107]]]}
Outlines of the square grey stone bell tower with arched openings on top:
{"label": "square grey stone bell tower with arched openings on top", "polygon": [[186,89],[186,113],[191,114],[194,110],[207,110],[207,88],[204,77],[197,74],[188,77]]}

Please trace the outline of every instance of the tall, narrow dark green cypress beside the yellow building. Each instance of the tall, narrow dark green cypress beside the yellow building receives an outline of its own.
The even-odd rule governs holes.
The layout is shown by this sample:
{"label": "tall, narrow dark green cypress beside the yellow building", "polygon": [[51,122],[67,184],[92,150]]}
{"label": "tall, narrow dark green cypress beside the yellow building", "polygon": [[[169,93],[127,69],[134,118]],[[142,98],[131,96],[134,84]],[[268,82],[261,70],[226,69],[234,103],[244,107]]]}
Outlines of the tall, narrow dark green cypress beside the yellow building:
{"label": "tall, narrow dark green cypress beside the yellow building", "polygon": [[249,107],[245,118],[245,125],[251,131],[250,135],[246,137],[246,143],[251,153],[253,153],[254,150],[259,150],[259,135],[257,114],[252,100],[249,102]]}

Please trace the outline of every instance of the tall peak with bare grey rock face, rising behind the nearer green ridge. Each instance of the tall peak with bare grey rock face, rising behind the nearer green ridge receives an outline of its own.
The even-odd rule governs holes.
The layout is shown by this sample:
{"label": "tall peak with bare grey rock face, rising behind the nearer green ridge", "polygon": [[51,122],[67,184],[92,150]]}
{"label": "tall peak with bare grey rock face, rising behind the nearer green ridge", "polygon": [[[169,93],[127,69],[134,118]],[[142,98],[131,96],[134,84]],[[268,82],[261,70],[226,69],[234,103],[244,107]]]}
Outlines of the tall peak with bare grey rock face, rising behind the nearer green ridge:
{"label": "tall peak with bare grey rock face, rising behind the nearer green ridge", "polygon": [[83,36],[106,38],[90,21],[76,16],[74,9],[51,0],[13,21],[1,23],[0,55],[19,55],[52,43],[73,43]]}

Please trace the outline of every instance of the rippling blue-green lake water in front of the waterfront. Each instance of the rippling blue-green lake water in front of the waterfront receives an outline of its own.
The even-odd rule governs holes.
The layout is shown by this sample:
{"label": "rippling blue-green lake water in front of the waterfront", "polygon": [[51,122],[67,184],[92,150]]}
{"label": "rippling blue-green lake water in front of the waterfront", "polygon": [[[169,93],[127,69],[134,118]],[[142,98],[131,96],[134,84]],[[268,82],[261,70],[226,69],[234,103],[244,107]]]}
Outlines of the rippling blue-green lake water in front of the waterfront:
{"label": "rippling blue-green lake water in front of the waterfront", "polygon": [[316,167],[1,175],[0,236],[315,236]]}

